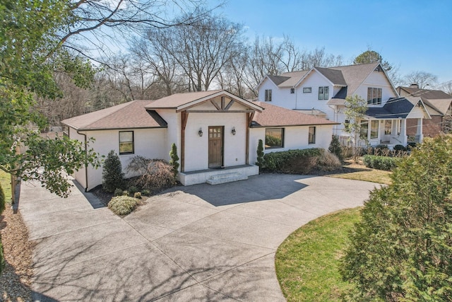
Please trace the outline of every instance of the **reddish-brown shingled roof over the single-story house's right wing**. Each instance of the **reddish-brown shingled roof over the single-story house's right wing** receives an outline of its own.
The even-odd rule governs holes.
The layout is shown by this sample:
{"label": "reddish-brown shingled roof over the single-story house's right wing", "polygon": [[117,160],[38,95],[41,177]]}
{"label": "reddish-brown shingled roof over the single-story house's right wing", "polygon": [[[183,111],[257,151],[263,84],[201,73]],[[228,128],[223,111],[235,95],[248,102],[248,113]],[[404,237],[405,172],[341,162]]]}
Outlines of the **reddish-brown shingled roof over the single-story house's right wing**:
{"label": "reddish-brown shingled roof over the single-story house's right wing", "polygon": [[307,126],[321,124],[338,124],[331,120],[326,120],[314,115],[307,115],[302,112],[285,109],[279,106],[270,105],[264,102],[253,102],[264,108],[259,113],[256,112],[251,122],[251,127],[282,127],[282,126]]}

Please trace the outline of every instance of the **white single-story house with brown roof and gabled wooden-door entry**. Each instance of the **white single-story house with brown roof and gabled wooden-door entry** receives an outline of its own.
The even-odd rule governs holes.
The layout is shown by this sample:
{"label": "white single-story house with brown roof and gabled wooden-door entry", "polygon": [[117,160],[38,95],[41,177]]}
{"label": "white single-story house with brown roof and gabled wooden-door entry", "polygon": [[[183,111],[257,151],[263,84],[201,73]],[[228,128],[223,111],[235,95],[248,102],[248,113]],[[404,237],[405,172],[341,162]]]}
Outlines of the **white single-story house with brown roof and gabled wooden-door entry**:
{"label": "white single-story house with brown roof and gabled wooden-door entry", "polygon": [[[159,100],[133,100],[62,121],[71,139],[101,155],[114,150],[123,169],[133,156],[169,161],[176,144],[182,185],[212,184],[258,174],[258,140],[265,152],[328,149],[330,120],[268,103],[252,102],[224,90],[177,93]],[[127,176],[127,175],[126,175]],[[102,184],[102,168],[85,167],[74,177],[91,190]]]}

